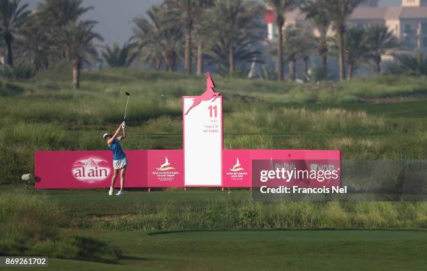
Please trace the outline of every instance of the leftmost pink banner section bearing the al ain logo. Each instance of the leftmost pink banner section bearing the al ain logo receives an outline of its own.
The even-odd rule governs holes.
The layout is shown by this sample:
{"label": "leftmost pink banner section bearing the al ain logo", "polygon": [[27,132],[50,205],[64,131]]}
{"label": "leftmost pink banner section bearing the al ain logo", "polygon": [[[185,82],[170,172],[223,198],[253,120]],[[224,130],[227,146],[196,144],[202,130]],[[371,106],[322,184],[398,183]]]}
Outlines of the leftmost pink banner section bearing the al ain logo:
{"label": "leftmost pink banner section bearing the al ain logo", "polygon": [[[147,187],[147,152],[127,150],[129,166],[125,187]],[[36,152],[36,189],[110,187],[110,150]],[[115,186],[119,187],[120,177]]]}

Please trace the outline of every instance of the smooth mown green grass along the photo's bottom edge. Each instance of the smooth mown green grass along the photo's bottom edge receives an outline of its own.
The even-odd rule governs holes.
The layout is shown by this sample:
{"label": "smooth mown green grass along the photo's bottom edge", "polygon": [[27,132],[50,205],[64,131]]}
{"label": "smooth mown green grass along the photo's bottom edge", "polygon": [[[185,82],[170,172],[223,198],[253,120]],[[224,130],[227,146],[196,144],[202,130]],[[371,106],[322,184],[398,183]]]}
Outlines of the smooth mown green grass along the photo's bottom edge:
{"label": "smooth mown green grass along the photo's bottom edge", "polygon": [[426,231],[144,231],[99,235],[117,264],[50,260],[52,270],[426,270]]}

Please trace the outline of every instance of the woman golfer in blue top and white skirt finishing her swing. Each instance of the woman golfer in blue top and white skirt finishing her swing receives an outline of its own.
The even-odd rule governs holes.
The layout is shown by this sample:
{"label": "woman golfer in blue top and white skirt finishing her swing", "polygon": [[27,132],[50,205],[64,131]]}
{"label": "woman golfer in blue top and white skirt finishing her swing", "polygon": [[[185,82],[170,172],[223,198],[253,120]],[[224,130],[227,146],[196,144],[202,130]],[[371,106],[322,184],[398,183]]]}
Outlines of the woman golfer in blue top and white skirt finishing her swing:
{"label": "woman golfer in blue top and white skirt finishing her swing", "polygon": [[[119,136],[120,130],[123,130],[123,134]],[[125,122],[121,123],[119,127],[117,127],[116,132],[114,132],[113,135],[111,134],[104,134],[103,138],[107,142],[108,148],[112,150],[113,153],[113,168],[114,173],[111,179],[111,187],[110,192],[108,194],[111,196],[113,193],[113,187],[114,183],[116,183],[117,173],[120,171],[120,190],[117,192],[117,196],[123,195],[123,185],[125,181],[125,173],[126,173],[126,167],[128,166],[128,157],[126,157],[125,153],[123,153],[123,150],[121,149],[119,141],[126,138],[126,132],[125,132]]]}

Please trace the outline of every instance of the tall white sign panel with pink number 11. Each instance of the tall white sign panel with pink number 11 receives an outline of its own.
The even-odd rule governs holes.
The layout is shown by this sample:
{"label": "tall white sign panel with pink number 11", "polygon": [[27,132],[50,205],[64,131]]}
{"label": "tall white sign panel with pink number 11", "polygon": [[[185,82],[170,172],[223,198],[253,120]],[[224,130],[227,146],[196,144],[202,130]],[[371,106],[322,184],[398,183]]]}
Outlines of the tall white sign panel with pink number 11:
{"label": "tall white sign panel with pink number 11", "polygon": [[184,185],[220,186],[223,176],[223,98],[204,100],[190,109],[199,97],[183,97]]}

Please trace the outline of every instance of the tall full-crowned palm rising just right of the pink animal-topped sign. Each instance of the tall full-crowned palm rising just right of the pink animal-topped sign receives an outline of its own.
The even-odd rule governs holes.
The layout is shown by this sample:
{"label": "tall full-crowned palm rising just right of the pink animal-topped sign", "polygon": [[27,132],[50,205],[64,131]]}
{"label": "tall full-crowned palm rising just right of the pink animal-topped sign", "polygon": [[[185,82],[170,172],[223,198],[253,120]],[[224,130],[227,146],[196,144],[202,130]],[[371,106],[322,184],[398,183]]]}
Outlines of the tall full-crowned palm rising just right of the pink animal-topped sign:
{"label": "tall full-crowned palm rising just right of the pink animal-topped sign", "polygon": [[215,39],[227,47],[228,68],[234,72],[237,40],[250,44],[260,38],[260,25],[255,20],[259,6],[253,1],[216,0],[212,8]]}

